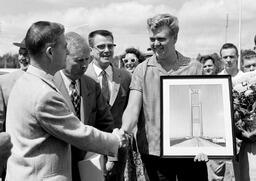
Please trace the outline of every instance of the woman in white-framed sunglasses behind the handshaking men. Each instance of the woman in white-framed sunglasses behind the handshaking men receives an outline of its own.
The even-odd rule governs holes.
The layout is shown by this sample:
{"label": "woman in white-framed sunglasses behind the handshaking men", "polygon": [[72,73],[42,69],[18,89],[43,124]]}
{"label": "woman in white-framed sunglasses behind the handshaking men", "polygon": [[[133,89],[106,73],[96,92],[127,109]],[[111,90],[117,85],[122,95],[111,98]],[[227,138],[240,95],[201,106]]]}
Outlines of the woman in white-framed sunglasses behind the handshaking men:
{"label": "woman in white-framed sunglasses behind the handshaking men", "polygon": [[144,60],[143,54],[136,48],[127,48],[125,53],[121,56],[123,67],[131,74],[137,65]]}

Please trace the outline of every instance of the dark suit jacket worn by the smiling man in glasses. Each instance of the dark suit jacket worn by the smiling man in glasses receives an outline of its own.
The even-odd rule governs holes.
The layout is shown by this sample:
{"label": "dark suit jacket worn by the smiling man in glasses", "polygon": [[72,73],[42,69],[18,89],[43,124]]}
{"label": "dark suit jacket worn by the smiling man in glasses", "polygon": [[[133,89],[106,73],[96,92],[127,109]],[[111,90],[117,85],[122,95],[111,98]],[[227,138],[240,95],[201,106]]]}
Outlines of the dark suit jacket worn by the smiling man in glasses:
{"label": "dark suit jacket worn by the smiling man in glasses", "polygon": [[[122,125],[123,112],[128,102],[131,75],[126,70],[119,69],[114,66],[112,66],[112,70],[114,86],[111,91],[109,104],[111,106],[110,111],[114,119],[114,127],[120,128]],[[93,68],[93,62],[89,64],[85,74],[99,82],[97,74]]]}

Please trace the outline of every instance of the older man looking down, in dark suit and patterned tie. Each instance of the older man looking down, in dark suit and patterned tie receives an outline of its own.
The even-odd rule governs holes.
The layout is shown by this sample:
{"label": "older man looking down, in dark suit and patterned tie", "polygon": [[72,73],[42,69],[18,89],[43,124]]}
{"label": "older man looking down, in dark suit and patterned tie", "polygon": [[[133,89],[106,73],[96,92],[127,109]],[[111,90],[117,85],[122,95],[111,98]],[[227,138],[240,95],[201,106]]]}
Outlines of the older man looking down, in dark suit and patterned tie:
{"label": "older man looking down, in dark suit and patterned tie", "polygon": [[[86,40],[75,32],[65,34],[69,55],[66,67],[54,76],[54,82],[62,95],[66,98],[71,110],[76,114],[72,103],[71,83],[76,81],[80,95],[80,120],[87,125],[94,126],[102,131],[112,132],[113,118],[110,106],[101,94],[100,85],[92,78],[84,75],[90,61],[90,49]],[[72,177],[79,181],[77,163],[84,158],[85,151],[72,150]]]}

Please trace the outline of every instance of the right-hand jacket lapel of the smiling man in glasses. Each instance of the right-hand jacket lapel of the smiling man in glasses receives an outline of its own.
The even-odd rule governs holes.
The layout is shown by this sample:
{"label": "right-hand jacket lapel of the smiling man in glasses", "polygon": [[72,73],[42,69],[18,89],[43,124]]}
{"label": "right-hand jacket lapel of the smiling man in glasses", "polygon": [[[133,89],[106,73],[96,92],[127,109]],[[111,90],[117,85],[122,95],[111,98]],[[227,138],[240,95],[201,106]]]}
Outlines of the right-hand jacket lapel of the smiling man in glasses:
{"label": "right-hand jacket lapel of the smiling man in glasses", "polygon": [[112,70],[113,70],[113,90],[111,92],[110,100],[109,100],[110,106],[113,106],[116,100],[116,97],[120,89],[120,82],[121,82],[120,72],[114,66],[112,66]]}

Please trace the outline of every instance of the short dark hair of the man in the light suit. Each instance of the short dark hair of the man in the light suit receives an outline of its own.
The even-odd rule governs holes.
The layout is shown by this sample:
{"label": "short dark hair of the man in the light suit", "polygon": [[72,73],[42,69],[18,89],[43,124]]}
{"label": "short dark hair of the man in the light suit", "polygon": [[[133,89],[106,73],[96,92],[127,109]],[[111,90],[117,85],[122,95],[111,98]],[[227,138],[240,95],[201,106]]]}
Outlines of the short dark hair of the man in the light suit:
{"label": "short dark hair of the man in the light suit", "polygon": [[25,44],[31,56],[43,53],[46,45],[55,46],[58,38],[65,31],[64,26],[49,21],[33,23],[27,31]]}

